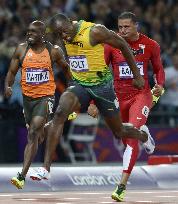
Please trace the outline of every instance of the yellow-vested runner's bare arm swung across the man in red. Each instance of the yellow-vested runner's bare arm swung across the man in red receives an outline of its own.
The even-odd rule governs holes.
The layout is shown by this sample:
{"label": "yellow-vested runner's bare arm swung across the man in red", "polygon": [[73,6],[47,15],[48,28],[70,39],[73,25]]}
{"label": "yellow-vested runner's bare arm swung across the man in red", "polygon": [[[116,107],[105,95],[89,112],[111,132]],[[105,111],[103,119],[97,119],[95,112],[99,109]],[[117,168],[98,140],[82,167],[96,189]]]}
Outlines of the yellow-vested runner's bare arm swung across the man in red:
{"label": "yellow-vested runner's bare arm swung across the man in red", "polygon": [[117,35],[115,32],[108,30],[103,25],[95,25],[90,32],[90,41],[93,46],[99,43],[106,43],[111,45],[112,47],[120,49],[125,59],[127,60],[129,67],[132,70],[134,78],[139,79],[138,84],[135,85],[138,88],[142,88],[144,86],[144,79],[139,73],[139,69],[136,66],[134,56],[129,49],[128,44],[122,37]]}

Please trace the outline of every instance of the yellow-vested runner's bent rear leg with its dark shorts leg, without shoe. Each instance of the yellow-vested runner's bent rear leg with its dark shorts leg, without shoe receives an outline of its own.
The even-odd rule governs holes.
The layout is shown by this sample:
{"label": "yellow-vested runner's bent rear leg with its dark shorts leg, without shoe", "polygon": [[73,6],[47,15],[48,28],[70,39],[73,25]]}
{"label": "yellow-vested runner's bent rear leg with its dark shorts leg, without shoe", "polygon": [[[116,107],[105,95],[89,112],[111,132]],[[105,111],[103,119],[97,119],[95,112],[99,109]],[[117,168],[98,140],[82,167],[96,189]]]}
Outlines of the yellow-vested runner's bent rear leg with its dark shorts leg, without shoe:
{"label": "yellow-vested runner's bent rear leg with its dark shorts leg, without shoe", "polygon": [[[113,90],[112,81],[89,88],[94,102],[116,138],[136,138],[146,142],[148,135],[135,127],[123,125],[119,114],[119,103]],[[112,112],[111,112],[112,111]]]}

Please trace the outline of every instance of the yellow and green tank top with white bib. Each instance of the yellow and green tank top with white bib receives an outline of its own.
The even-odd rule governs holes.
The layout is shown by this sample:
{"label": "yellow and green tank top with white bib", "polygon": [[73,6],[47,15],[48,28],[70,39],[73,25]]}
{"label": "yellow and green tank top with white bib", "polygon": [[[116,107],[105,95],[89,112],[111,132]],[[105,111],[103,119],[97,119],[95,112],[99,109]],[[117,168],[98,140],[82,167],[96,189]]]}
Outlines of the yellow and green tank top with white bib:
{"label": "yellow and green tank top with white bib", "polygon": [[90,29],[94,23],[79,21],[79,28],[71,43],[65,42],[72,76],[80,84],[93,86],[112,78],[105,63],[104,45],[90,44]]}

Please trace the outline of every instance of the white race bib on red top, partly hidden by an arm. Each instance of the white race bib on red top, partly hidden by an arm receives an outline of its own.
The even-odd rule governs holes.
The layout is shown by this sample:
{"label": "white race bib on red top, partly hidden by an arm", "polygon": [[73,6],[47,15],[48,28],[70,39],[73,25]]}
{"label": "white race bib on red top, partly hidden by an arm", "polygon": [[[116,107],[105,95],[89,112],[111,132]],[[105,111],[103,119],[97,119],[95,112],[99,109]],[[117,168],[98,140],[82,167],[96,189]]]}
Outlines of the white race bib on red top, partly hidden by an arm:
{"label": "white race bib on red top, partly hidden by an arm", "polygon": [[[140,75],[143,76],[144,75],[143,62],[136,62],[136,65],[140,71]],[[123,62],[119,64],[119,75],[121,79],[132,79],[133,78],[132,71],[129,65],[127,64],[127,62]]]}

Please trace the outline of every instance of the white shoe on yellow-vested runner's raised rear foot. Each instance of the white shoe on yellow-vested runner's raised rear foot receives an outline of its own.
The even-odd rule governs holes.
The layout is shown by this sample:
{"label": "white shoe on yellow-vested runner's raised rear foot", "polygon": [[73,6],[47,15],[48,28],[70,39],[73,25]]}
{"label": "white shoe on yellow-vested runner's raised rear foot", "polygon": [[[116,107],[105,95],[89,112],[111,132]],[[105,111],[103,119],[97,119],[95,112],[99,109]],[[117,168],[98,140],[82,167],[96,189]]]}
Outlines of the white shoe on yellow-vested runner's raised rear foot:
{"label": "white shoe on yellow-vested runner's raised rear foot", "polygon": [[146,125],[142,125],[140,127],[140,130],[147,133],[148,140],[143,143],[143,147],[145,148],[145,151],[147,152],[147,154],[152,154],[154,152],[154,149],[155,149],[154,139],[152,138],[152,136],[151,136],[151,134],[149,132],[149,129],[147,128]]}

